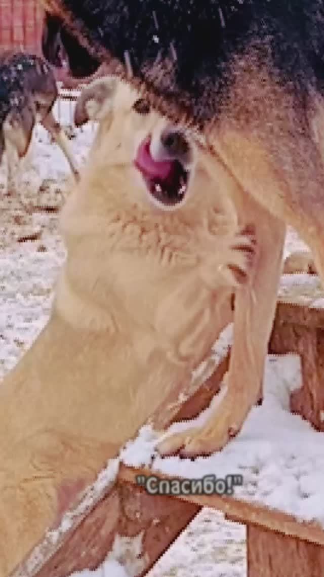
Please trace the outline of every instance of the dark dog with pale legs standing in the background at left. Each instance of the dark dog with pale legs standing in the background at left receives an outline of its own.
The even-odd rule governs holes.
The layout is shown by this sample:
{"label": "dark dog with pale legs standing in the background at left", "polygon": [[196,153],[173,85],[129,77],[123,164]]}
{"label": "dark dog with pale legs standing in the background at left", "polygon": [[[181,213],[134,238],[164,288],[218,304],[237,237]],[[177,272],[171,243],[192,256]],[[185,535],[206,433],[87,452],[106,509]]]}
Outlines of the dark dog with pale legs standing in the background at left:
{"label": "dark dog with pale legs standing in the background at left", "polygon": [[72,173],[77,165],[68,137],[53,116],[58,96],[53,70],[42,58],[7,51],[0,55],[0,162],[8,159],[8,192],[15,189],[15,161],[28,151],[36,122],[42,123],[57,142]]}

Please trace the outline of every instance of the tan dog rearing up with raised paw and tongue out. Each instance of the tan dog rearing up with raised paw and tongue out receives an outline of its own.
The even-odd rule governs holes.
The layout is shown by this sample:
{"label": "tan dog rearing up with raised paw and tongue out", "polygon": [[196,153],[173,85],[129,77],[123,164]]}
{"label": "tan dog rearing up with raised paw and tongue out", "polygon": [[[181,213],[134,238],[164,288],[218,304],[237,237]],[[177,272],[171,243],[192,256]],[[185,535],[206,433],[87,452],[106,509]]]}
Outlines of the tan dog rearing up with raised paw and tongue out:
{"label": "tan dog rearing up with raised paw and tongue out", "polygon": [[[92,118],[106,112],[62,212],[68,257],[53,312],[0,387],[1,577],[55,526],[106,460],[163,403],[177,399],[232,319],[233,291],[229,383],[233,376],[241,383],[238,400],[246,407],[249,375],[259,394],[275,298],[264,299],[263,308],[251,294],[254,260],[262,267],[264,255],[255,254],[246,227],[262,220],[273,245],[276,222],[247,203],[222,164],[212,182],[191,138],[126,85],[106,78],[94,96],[93,87],[76,115],[91,104]],[[241,202],[239,219],[233,199]],[[271,252],[271,262],[280,256]],[[269,283],[260,290],[270,294]],[[250,347],[251,323],[259,332]],[[233,414],[233,400],[225,399],[218,417]],[[224,441],[209,440],[210,450]]]}

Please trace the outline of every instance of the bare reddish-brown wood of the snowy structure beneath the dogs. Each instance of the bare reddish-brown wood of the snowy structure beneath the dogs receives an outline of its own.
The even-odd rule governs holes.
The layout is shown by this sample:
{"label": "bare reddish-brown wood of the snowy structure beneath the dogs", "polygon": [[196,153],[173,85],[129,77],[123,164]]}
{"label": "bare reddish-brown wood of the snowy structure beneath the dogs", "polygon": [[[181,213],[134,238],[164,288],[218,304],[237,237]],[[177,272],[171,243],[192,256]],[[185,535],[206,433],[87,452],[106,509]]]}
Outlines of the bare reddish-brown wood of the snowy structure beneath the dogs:
{"label": "bare reddish-brown wood of the snowy structure beneath the dogs", "polygon": [[[304,280],[292,283],[291,278],[286,278],[281,286],[269,352],[300,355],[303,387],[292,393],[291,409],[323,431],[324,301],[321,299],[324,295],[318,279],[304,277]],[[187,385],[189,398],[185,402],[165,405],[155,413],[152,422],[157,428],[195,417],[208,406],[228,366],[226,347],[223,352],[224,355],[207,359],[203,370],[195,374]],[[83,458],[87,459],[86,452]],[[235,494],[150,495],[137,484],[137,476],[155,474],[167,478],[167,475],[150,467],[135,469],[121,464],[118,473],[117,469],[117,462],[110,463],[106,470],[98,471],[94,485],[73,498],[72,505],[68,499],[69,506],[62,508],[55,528],[35,542],[10,575],[65,577],[73,571],[98,567],[111,549],[117,559],[120,556],[121,563],[131,568],[130,575],[145,575],[206,505],[247,525],[248,577],[323,577],[324,515],[321,526],[319,522],[297,519],[278,508],[270,509]],[[111,484],[114,474],[117,482]],[[123,559],[118,544],[126,543],[126,537],[130,548]]]}

